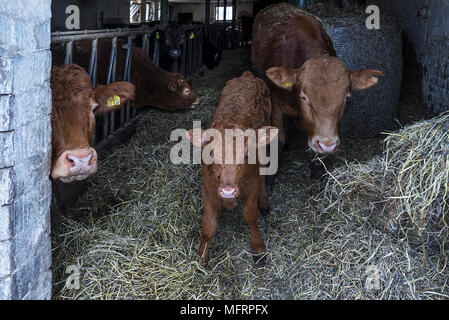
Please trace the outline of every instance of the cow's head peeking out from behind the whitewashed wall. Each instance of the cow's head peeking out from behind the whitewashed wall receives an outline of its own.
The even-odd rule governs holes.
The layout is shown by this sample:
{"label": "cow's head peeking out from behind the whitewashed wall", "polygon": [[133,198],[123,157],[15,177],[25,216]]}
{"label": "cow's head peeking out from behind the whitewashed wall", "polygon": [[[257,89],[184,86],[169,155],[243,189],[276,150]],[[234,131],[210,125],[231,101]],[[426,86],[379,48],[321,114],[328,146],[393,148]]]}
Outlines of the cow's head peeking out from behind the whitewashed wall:
{"label": "cow's head peeking out from behind the whitewashed wall", "polygon": [[69,64],[52,68],[51,89],[51,177],[63,182],[83,180],[97,170],[97,153],[92,148],[95,114],[121,108],[134,98],[134,85],[114,82],[95,90],[86,71]]}

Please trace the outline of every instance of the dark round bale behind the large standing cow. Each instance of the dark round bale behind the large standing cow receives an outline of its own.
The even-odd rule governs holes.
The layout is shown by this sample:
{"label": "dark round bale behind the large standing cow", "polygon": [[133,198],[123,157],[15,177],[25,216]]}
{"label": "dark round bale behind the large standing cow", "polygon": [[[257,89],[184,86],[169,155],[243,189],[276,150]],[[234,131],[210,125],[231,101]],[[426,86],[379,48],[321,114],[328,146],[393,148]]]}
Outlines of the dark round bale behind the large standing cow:
{"label": "dark round bale behind the large standing cow", "polygon": [[367,29],[368,14],[361,9],[312,7],[311,13],[326,25],[337,55],[352,70],[385,72],[369,90],[353,92],[348,100],[340,133],[372,137],[394,127],[402,80],[402,39],[399,18],[382,12],[380,29]]}

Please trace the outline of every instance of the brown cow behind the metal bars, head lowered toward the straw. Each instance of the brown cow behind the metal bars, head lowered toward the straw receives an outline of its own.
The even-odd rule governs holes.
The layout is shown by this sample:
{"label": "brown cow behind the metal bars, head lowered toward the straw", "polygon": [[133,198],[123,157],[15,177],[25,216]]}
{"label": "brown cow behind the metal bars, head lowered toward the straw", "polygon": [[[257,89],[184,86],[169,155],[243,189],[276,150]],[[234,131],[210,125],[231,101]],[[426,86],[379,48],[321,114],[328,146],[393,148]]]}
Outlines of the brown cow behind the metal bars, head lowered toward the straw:
{"label": "brown cow behind the metal bars, head lowered toward the straw", "polygon": [[[126,60],[126,42],[117,43],[116,79],[123,79]],[[91,53],[90,41],[79,41],[73,46],[73,61],[88,69]],[[108,76],[111,39],[98,40],[97,80],[106,83]],[[65,49],[52,45],[53,65],[64,63]],[[131,82],[136,86],[134,107],[152,106],[162,110],[177,111],[195,108],[199,97],[180,73],[172,73],[156,66],[140,48],[133,46]]]}

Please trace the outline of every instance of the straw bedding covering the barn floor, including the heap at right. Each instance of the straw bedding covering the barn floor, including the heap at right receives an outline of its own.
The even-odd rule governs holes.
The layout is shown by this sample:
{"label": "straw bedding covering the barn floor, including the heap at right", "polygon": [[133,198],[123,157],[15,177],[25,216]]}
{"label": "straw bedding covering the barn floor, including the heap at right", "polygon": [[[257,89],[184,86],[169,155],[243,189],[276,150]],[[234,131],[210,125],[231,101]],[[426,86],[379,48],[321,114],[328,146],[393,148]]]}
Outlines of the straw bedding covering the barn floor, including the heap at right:
{"label": "straw bedding covering the barn floor, including the heap at right", "polygon": [[[142,113],[78,206],[53,217],[54,298],[449,298],[448,115],[389,135],[383,154],[383,137],[344,138],[321,182],[310,181],[305,139],[292,140],[271,213],[259,217],[266,266],[252,262],[241,206],[222,212],[209,264],[199,264],[200,166],[171,164],[169,136],[192,120],[207,127],[226,81],[248,68],[248,51],[226,51],[191,81],[198,109]],[[72,264],[79,289],[64,288]]]}

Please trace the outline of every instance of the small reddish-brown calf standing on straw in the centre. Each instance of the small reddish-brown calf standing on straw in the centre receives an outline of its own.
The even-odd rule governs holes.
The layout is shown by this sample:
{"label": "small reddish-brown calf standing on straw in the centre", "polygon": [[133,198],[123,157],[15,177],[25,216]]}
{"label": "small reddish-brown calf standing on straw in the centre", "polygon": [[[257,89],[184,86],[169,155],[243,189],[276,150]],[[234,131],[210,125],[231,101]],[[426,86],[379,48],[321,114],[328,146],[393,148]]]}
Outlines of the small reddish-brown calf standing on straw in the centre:
{"label": "small reddish-brown calf standing on straw in the centre", "polygon": [[[251,72],[247,71],[240,78],[227,82],[210,128],[215,129],[220,137],[225,137],[227,129],[242,131],[261,129],[257,133],[257,138],[256,135],[253,140],[246,137],[246,140],[242,140],[244,143],[240,147],[237,145],[234,148],[234,138],[210,138],[201,129],[192,129],[187,132],[193,145],[210,148],[210,157],[213,159],[213,163],[206,164],[204,156],[202,157],[201,194],[204,218],[199,255],[203,264],[207,262],[208,246],[217,231],[220,209],[234,208],[239,198],[243,200],[243,217],[251,232],[254,261],[259,265],[264,264],[265,246],[259,233],[257,218],[258,208],[262,212],[269,210],[268,194],[265,189],[265,179],[259,174],[260,163],[258,159],[254,159],[250,164],[248,150],[256,147],[256,140],[257,148],[260,150],[261,147],[265,149],[266,145],[276,138],[277,128],[267,126],[270,124],[270,114],[271,103],[267,86],[263,80],[255,78]],[[222,161],[225,148],[229,147],[233,150],[235,160]],[[242,161],[238,162],[237,159]]]}

